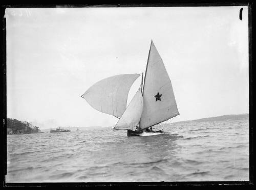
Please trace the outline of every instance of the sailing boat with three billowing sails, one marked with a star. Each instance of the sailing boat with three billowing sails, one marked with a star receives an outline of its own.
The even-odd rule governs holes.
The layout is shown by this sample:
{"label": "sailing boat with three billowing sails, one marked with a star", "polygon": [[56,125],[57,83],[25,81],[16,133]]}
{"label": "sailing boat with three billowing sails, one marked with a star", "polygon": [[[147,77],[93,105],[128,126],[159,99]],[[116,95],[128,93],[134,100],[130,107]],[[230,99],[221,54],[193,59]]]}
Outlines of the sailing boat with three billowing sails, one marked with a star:
{"label": "sailing boat with three billowing sails, one marked with a star", "polygon": [[[119,119],[113,130],[127,130],[127,136],[141,135],[146,129],[178,116],[179,111],[172,83],[153,41],[148,53],[144,85],[142,73],[141,85],[126,107],[129,90],[139,76],[120,74],[102,79],[81,97],[96,110]],[[136,130],[133,130],[135,127]]]}

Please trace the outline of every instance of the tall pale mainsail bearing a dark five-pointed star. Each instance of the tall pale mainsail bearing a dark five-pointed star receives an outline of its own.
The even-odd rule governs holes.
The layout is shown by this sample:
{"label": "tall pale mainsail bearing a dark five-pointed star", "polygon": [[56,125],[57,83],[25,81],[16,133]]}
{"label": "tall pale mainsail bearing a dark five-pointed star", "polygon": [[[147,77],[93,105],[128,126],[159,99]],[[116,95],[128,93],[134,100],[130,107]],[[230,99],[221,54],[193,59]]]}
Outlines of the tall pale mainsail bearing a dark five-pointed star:
{"label": "tall pale mainsail bearing a dark five-pointed star", "polygon": [[143,130],[179,115],[172,83],[163,61],[151,41],[144,79],[143,112],[139,129]]}

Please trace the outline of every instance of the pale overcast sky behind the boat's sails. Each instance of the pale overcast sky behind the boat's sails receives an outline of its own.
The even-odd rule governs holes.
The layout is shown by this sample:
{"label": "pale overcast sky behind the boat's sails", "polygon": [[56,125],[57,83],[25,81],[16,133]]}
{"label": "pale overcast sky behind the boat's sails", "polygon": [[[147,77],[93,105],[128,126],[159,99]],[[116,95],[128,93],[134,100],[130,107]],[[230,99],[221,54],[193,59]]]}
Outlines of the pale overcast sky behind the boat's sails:
{"label": "pale overcast sky behind the boat's sails", "polygon": [[173,122],[249,113],[246,6],[8,8],[5,17],[8,118],[114,126],[80,96],[103,78],[145,72],[151,40],[172,81]]}

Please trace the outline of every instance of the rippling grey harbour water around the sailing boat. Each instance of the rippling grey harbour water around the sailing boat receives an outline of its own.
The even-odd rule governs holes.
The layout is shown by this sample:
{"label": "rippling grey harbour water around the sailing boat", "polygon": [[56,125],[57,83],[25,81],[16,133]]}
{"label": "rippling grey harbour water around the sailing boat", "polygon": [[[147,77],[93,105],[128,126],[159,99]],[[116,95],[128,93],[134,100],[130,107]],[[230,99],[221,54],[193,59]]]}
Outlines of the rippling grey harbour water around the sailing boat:
{"label": "rippling grey harbour water around the sailing boat", "polygon": [[147,137],[109,127],[8,135],[6,182],[249,180],[248,126],[240,119],[172,123]]}

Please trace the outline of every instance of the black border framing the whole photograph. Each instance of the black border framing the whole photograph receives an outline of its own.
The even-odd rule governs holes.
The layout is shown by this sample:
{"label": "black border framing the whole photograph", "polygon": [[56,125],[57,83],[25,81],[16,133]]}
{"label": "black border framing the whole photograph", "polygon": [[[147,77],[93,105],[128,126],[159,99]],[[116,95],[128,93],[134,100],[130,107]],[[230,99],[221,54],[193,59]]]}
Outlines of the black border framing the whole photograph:
{"label": "black border framing the whole photograph", "polygon": [[[6,183],[7,174],[7,96],[6,96],[6,18],[4,18],[6,8],[55,8],[55,7],[209,7],[209,6],[248,6],[248,32],[249,32],[249,181],[196,181],[196,182],[99,182],[99,183]],[[238,12],[238,19],[241,19],[242,11]],[[86,4],[86,5],[2,5],[1,6],[1,179],[4,187],[17,186],[42,186],[42,187],[88,187],[88,186],[245,186],[252,187],[255,182],[255,146],[253,134],[255,129],[255,113],[253,105],[253,38],[252,38],[252,3],[161,3],[161,4]],[[255,66],[254,66],[255,67]],[[254,68],[255,70],[255,68]],[[255,86],[255,85],[254,85]],[[256,126],[254,126],[256,127]]]}

